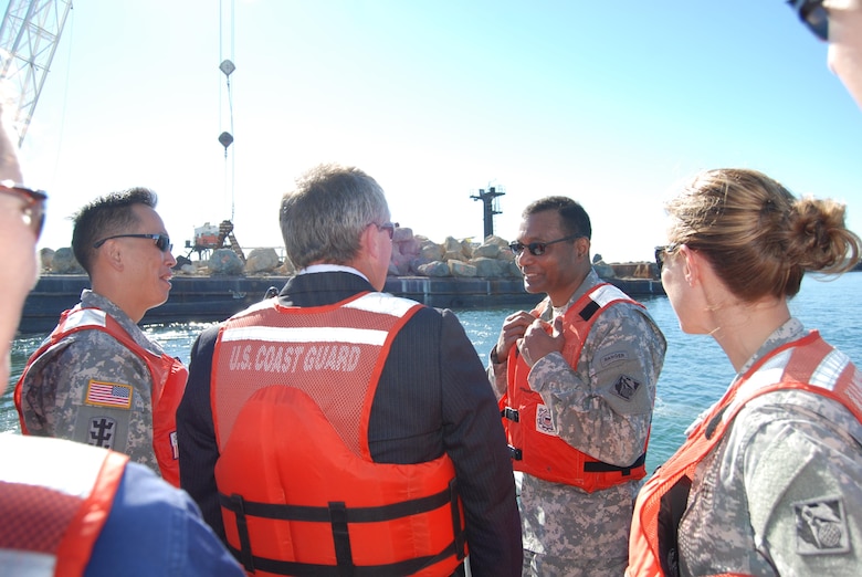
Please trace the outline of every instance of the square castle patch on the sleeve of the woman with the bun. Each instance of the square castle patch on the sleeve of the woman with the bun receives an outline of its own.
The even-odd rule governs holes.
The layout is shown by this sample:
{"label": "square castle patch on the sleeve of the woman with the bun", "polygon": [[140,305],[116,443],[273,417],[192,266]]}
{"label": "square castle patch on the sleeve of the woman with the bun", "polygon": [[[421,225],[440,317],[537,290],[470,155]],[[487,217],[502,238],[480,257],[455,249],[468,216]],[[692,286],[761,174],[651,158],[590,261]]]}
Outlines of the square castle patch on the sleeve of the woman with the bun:
{"label": "square castle patch on the sleeve of the woman with the bun", "polygon": [[793,503],[796,550],[822,555],[850,550],[844,503],[840,496]]}

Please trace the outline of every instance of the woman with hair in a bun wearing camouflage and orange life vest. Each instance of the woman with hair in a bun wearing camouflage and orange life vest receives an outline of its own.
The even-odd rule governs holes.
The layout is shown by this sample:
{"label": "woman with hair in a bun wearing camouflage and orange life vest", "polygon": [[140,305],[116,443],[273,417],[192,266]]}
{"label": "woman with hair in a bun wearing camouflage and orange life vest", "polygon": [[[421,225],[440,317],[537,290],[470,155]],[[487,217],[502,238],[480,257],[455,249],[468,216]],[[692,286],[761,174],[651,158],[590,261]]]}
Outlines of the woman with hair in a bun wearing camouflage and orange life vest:
{"label": "woman with hair in a bun wearing camouflage and orange life vest", "polygon": [[859,262],[844,207],[718,169],[667,212],[655,255],[680,326],[737,375],[638,495],[627,575],[858,576],[862,374],[787,304],[807,271]]}

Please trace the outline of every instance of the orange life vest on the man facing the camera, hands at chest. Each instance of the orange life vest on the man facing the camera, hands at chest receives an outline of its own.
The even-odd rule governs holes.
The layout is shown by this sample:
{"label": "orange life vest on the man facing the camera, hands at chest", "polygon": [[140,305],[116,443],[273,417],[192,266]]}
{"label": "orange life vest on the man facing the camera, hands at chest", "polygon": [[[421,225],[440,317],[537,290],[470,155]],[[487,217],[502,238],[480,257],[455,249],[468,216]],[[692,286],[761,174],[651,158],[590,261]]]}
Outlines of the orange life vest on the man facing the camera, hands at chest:
{"label": "orange life vest on the man facing the camera, hands at chest", "polygon": [[[563,316],[563,357],[571,367],[578,366],[584,342],[598,316],[609,306],[623,302],[643,307],[612,284],[602,283],[569,307]],[[539,317],[542,312],[536,308],[533,315]],[[646,445],[632,464],[617,466],[598,461],[560,439],[542,395],[529,387],[529,366],[517,347],[509,349],[507,370],[507,387],[500,399],[500,413],[516,471],[578,486],[590,493],[646,475]]]}

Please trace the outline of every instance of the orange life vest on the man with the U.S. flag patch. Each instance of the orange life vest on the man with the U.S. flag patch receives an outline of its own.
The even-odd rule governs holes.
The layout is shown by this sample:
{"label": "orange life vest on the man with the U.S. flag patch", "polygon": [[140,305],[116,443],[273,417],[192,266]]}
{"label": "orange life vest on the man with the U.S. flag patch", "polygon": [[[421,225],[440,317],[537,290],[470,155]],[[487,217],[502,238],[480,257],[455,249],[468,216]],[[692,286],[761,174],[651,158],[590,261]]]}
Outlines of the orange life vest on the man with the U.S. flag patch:
{"label": "orange life vest on the man with the U.S. flag patch", "polygon": [[21,395],[24,378],[31,365],[45,350],[66,336],[78,331],[104,331],[116,338],[124,347],[137,355],[146,365],[153,379],[150,397],[153,399],[153,451],[165,481],[179,486],[179,450],[177,445],[177,407],[186,391],[188,369],[170,355],[156,355],[138,345],[114,317],[99,308],[76,306],[64,311],[60,323],[39,349],[30,356],[14,390],[14,402],[21,432],[30,434],[24,423]]}

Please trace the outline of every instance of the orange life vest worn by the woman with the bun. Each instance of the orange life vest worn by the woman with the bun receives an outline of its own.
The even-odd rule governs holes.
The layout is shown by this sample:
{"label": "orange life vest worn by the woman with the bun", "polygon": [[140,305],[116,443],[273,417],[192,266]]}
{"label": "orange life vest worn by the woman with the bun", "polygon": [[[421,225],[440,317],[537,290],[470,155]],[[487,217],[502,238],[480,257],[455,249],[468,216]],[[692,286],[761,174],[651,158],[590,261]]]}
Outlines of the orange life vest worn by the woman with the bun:
{"label": "orange life vest worn by the woman with the bun", "polygon": [[[823,363],[827,358],[830,363]],[[787,389],[833,399],[862,422],[862,376],[847,355],[826,343],[817,331],[759,359],[641,489],[632,518],[627,576],[675,575],[676,534],[697,464],[749,400]]]}

